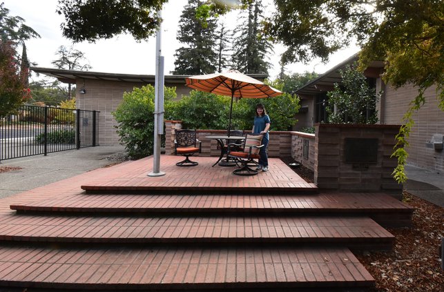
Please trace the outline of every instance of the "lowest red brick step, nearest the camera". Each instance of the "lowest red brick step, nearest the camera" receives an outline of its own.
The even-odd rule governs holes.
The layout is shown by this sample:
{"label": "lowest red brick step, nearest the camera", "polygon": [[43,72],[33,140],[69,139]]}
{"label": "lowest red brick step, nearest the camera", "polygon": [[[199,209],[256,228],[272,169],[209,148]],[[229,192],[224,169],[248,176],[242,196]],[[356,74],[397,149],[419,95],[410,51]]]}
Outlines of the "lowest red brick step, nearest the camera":
{"label": "lowest red brick step, nearest the camera", "polygon": [[374,285],[347,248],[0,247],[0,284],[45,289],[271,289]]}

